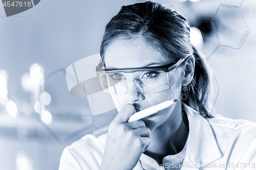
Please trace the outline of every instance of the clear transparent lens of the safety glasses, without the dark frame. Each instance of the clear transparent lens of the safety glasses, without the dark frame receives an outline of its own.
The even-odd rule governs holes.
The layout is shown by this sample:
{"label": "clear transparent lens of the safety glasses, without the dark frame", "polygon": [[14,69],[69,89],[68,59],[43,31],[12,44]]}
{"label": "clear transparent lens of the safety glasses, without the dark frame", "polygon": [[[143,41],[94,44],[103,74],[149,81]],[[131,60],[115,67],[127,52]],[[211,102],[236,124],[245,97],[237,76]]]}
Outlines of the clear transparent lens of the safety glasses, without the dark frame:
{"label": "clear transparent lens of the safety glasses, without the dark frame", "polygon": [[99,81],[104,91],[108,93],[124,95],[127,93],[129,84],[133,82],[142,93],[151,94],[170,88],[176,80],[175,70],[112,72],[101,75]]}

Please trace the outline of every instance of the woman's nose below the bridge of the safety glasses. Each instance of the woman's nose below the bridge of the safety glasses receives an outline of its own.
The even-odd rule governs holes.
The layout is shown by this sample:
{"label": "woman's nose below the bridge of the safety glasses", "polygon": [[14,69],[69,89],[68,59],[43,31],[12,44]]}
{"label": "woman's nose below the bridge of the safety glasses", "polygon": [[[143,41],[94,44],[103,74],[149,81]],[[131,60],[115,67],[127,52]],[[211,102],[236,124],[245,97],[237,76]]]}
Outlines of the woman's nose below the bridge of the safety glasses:
{"label": "woman's nose below the bridge of the safety glasses", "polygon": [[142,101],[145,99],[145,96],[141,92],[141,87],[136,84],[134,81],[130,81],[127,89],[127,100],[130,102]]}

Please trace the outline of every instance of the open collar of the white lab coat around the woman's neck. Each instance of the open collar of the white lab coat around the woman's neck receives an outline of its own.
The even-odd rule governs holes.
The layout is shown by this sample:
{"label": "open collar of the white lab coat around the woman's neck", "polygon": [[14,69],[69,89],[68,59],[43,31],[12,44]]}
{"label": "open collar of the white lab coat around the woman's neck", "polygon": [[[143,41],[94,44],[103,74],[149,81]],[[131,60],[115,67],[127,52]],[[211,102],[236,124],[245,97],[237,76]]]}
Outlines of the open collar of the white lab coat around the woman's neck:
{"label": "open collar of the white lab coat around the woman's neck", "polygon": [[[187,114],[189,124],[186,155],[183,163],[203,166],[220,159],[222,153],[219,150],[217,140],[208,120],[201,116],[198,111],[185,104],[183,104],[183,108]],[[157,163],[153,158],[145,154],[141,155],[140,161],[143,167],[148,166],[150,162]],[[186,168],[183,167],[182,169]]]}

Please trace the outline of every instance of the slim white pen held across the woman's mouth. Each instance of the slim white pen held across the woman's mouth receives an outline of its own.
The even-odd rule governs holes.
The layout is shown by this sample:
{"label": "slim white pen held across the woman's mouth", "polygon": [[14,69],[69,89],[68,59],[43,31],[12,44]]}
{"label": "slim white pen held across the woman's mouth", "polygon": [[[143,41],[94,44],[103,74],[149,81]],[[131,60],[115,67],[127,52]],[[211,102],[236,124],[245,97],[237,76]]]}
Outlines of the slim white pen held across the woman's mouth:
{"label": "slim white pen held across the woman's mouth", "polygon": [[[170,101],[165,101],[160,104],[148,107],[144,110],[138,111],[137,113],[132,114],[132,116],[128,119],[128,122],[136,121],[136,120],[142,119],[144,117],[150,116],[154,113],[157,113],[158,111],[163,110],[163,109],[169,107],[170,105],[174,104],[176,101],[177,101],[176,99],[170,100]],[[97,137],[97,136],[103,135],[104,133],[108,133],[109,126],[110,125],[106,125],[102,128],[96,129],[95,131],[93,131],[93,135]]]}

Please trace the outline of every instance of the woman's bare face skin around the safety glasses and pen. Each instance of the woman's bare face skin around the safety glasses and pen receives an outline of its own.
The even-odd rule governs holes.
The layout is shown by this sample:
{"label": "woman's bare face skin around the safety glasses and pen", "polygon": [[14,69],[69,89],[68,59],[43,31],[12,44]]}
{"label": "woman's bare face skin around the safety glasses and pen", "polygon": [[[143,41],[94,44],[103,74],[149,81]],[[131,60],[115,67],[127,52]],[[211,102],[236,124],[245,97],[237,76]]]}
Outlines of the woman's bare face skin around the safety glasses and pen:
{"label": "woman's bare face skin around the safety glasses and pen", "polygon": [[[106,68],[135,68],[148,65],[150,65],[148,67],[151,67],[172,63],[167,56],[147,45],[142,38],[115,40],[106,48],[104,61]],[[172,130],[175,130],[181,123],[181,69],[181,66],[176,68],[176,81],[171,88],[165,91],[142,94],[134,83],[129,85],[125,96],[126,102],[133,104],[136,111],[166,100],[177,99],[174,105],[142,119],[151,131],[161,126],[166,128],[164,125],[168,125]]]}

